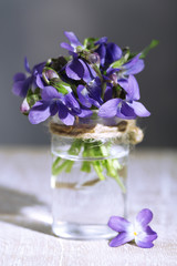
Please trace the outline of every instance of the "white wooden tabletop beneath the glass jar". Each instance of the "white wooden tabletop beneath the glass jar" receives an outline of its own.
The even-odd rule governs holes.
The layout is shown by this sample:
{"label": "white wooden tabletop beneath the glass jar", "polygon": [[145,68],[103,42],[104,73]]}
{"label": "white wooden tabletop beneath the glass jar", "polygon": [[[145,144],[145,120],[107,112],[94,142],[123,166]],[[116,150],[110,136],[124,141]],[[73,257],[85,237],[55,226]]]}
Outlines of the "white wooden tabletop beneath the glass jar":
{"label": "white wooden tabletop beneath the glass jar", "polygon": [[177,265],[177,151],[133,151],[128,217],[148,207],[155,247],[65,241],[51,232],[50,151],[0,147],[0,266]]}

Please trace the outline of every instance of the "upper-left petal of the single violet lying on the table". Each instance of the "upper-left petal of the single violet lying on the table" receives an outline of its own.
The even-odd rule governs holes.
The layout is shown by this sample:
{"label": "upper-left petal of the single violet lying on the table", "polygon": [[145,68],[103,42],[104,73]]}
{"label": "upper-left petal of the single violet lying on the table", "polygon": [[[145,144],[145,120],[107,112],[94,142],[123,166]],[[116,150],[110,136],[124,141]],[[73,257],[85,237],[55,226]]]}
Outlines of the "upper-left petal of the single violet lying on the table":
{"label": "upper-left petal of the single violet lying on the table", "polygon": [[132,226],[127,219],[118,216],[112,216],[107,225],[116,232],[126,232]]}

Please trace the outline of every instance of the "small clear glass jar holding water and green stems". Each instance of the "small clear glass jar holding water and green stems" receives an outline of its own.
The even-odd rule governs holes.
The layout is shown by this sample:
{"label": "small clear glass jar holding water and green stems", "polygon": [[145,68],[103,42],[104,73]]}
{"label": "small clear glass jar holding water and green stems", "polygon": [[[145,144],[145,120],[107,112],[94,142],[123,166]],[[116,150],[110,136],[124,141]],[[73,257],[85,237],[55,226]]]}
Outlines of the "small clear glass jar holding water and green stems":
{"label": "small clear glass jar holding water and green stems", "polygon": [[[104,123],[80,119],[75,126]],[[111,238],[116,233],[107,226],[110,217],[126,216],[129,147],[117,137],[80,135],[52,133],[52,231],[70,239]]]}

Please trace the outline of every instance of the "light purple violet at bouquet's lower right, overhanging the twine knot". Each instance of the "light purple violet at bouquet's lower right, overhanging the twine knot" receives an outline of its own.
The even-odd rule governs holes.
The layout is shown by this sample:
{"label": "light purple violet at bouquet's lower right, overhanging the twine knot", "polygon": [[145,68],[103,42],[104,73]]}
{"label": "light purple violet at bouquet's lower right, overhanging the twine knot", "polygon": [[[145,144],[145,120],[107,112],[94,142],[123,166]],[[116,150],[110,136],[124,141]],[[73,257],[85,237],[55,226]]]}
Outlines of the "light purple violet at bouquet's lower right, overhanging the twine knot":
{"label": "light purple violet at bouquet's lower right, overhanging the twine knot", "polygon": [[118,84],[125,90],[126,99],[111,99],[105,102],[98,110],[98,115],[102,117],[121,117],[121,119],[136,119],[137,116],[149,116],[150,113],[140,103],[139,88],[134,75],[129,75],[127,80],[119,80]]}

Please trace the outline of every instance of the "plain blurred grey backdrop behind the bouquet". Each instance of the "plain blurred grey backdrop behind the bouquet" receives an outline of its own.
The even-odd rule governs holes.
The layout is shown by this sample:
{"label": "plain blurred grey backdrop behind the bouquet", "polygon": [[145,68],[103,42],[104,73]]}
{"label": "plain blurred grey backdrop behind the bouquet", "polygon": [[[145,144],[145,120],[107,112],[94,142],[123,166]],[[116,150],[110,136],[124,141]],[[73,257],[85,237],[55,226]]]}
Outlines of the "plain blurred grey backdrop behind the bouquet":
{"label": "plain blurred grey backdrop behind the bouquet", "polygon": [[11,93],[12,76],[30,65],[64,53],[63,31],[86,37],[108,37],[119,47],[140,51],[152,39],[158,48],[146,58],[136,78],[142,102],[152,116],[140,120],[144,146],[177,146],[177,1],[176,0],[1,0],[0,1],[0,144],[48,144],[44,125],[31,125],[20,114],[21,99]]}

